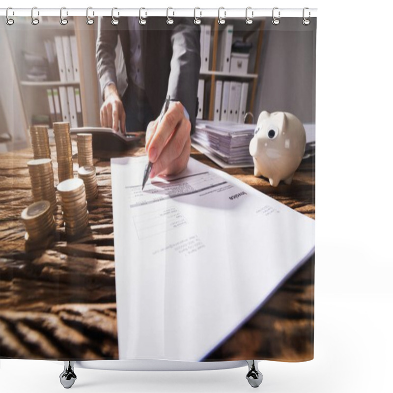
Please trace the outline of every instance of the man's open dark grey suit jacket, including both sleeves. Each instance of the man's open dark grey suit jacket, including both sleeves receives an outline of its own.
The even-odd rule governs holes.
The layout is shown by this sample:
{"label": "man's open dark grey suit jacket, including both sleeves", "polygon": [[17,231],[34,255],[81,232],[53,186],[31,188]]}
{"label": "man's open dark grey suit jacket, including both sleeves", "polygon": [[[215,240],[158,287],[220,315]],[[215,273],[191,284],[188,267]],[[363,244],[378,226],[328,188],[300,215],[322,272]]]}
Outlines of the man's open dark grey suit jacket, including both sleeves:
{"label": "man's open dark grey suit jacket, including both sleeves", "polygon": [[[98,19],[96,61],[102,92],[109,81],[117,85],[114,63],[117,36],[120,37],[127,76],[130,75],[130,32],[128,23],[122,23],[122,19],[116,26],[112,25],[111,17]],[[172,25],[166,21],[163,17],[149,17],[147,23],[140,26],[146,96],[155,117],[160,114],[167,94],[171,100],[180,101],[190,115],[191,130],[194,132],[200,27],[193,23],[194,18],[174,18]]]}

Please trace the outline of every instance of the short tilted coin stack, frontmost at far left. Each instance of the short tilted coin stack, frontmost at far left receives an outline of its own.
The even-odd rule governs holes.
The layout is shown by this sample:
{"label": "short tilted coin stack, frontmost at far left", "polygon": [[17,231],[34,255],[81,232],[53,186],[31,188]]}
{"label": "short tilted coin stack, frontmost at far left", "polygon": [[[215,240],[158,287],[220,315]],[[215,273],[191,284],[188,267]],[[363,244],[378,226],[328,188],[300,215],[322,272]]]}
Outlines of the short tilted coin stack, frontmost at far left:
{"label": "short tilted coin stack, frontmost at far left", "polygon": [[41,242],[56,230],[51,204],[47,200],[28,206],[22,212],[22,220],[26,227],[25,239],[29,242]]}

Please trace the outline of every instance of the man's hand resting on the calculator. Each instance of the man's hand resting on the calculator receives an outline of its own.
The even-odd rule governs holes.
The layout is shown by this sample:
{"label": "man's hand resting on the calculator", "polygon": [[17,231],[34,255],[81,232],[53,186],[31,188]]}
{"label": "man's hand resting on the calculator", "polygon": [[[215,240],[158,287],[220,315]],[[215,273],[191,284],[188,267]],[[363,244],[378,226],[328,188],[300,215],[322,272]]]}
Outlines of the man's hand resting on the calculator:
{"label": "man's hand resting on the calculator", "polygon": [[101,126],[118,131],[120,120],[120,130],[124,134],[126,131],[126,112],[114,84],[108,84],[105,87],[104,97],[105,101],[100,109]]}

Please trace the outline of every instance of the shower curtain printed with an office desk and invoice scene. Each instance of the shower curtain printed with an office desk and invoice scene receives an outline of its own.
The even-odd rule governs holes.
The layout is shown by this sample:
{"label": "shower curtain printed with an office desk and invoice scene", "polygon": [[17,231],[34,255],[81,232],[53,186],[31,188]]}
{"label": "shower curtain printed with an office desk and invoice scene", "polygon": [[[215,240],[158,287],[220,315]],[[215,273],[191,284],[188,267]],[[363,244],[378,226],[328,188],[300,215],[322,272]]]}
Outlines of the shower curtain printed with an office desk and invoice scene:
{"label": "shower curtain printed with an office desk and invoice scene", "polygon": [[[0,357],[311,360],[316,18],[14,19],[0,24]],[[290,184],[254,175],[262,111],[306,130]],[[149,144],[167,161],[130,194]]]}

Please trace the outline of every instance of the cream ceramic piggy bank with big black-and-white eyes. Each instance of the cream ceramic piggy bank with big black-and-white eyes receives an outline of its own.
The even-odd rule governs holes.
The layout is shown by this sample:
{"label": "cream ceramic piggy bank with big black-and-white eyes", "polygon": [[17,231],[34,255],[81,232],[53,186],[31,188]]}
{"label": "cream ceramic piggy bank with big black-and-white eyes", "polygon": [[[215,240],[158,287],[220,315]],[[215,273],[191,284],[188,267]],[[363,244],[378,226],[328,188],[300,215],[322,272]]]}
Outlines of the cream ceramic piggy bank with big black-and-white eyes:
{"label": "cream ceramic piggy bank with big black-and-white eyes", "polygon": [[291,184],[306,148],[306,131],[302,122],[288,112],[261,112],[250,141],[254,175],[269,179],[273,187],[280,180]]}

